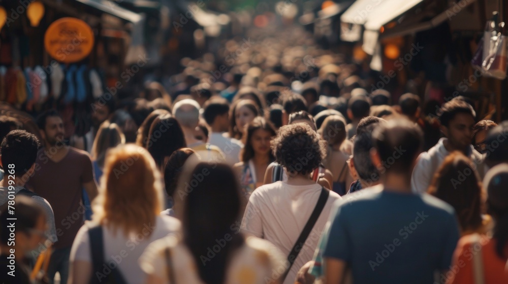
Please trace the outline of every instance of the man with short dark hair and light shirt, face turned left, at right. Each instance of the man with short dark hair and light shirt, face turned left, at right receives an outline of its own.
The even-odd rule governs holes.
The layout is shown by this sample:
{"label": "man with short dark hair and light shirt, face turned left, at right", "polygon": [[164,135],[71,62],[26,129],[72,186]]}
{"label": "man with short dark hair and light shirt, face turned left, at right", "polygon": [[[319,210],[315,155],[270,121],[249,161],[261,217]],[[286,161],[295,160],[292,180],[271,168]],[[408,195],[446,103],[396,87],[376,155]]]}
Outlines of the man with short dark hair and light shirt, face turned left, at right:
{"label": "man with short dark hair and light shirt, face turned left, at right", "polygon": [[469,157],[476,165],[480,177],[483,178],[485,175],[484,158],[471,145],[475,116],[471,105],[461,99],[452,99],[442,105],[439,116],[440,130],[446,138],[439,139],[434,147],[420,155],[411,178],[414,192],[427,191],[434,173],[444,158],[453,151],[462,152]]}

